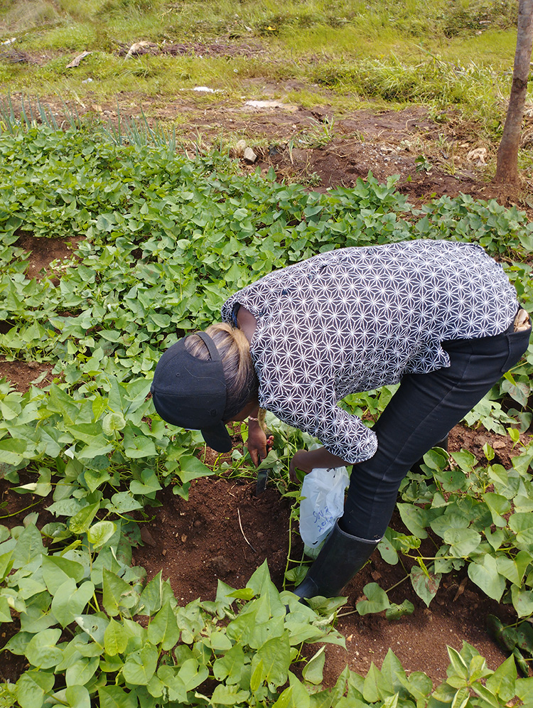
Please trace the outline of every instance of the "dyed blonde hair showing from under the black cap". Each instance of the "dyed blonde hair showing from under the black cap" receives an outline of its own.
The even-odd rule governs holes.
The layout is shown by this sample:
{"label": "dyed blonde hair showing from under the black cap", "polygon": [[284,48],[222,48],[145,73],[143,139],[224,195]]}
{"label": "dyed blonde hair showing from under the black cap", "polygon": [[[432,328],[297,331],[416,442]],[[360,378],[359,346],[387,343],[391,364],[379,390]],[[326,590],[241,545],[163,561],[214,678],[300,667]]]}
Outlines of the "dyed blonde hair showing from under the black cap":
{"label": "dyed blonde hair showing from under the black cap", "polygon": [[[225,322],[210,325],[205,333],[215,343],[222,359],[227,390],[224,420],[231,420],[257,397],[259,382],[250,356],[249,341],[242,331]],[[185,348],[198,359],[209,359],[208,348],[198,336],[188,336]]]}

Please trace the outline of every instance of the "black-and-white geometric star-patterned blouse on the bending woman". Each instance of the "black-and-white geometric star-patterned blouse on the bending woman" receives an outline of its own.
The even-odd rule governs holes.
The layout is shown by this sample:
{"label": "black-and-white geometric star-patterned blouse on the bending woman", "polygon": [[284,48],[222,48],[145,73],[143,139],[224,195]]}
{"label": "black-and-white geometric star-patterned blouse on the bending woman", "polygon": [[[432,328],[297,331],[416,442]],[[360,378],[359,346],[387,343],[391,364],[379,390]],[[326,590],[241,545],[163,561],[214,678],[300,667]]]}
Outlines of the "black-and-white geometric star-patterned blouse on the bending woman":
{"label": "black-and-white geometric star-patterned blouse on the bending woman", "polygon": [[250,343],[259,405],[347,463],[375,454],[375,433],[338,407],[350,393],[450,365],[441,342],[499,334],[517,295],[478,245],[414,240],[321,253],[232,295],[257,320]]}

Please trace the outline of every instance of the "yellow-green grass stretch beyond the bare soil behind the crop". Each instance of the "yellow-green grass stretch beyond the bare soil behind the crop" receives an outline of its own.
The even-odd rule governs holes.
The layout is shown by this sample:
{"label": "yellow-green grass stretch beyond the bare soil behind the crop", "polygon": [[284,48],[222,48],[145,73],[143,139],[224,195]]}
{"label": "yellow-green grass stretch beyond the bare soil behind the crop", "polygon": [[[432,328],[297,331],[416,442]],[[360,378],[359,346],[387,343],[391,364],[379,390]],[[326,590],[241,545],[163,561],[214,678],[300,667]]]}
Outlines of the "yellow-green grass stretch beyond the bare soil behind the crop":
{"label": "yellow-green grass stretch beyond the bare soil behind the crop", "polygon": [[[132,102],[186,96],[198,106],[271,98],[302,107],[449,106],[499,138],[503,99],[515,52],[515,0],[4,0],[0,41],[36,58],[1,56],[0,82],[10,92],[60,95],[80,106],[127,95]],[[247,44],[260,55],[142,55],[136,41]],[[83,50],[92,54],[75,69]],[[122,55],[121,55],[122,50]],[[250,80],[253,80],[250,85]],[[195,86],[217,90],[208,97]],[[114,99],[113,99],[114,100]]]}

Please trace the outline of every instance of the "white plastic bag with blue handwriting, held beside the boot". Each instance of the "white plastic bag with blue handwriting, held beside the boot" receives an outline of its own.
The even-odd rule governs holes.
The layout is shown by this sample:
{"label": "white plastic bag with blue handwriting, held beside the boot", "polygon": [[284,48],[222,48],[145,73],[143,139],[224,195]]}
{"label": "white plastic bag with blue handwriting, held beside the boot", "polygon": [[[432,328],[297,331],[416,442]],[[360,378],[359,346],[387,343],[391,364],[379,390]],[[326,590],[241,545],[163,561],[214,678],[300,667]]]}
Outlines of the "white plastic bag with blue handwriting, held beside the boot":
{"label": "white plastic bag with blue handwriting, held beside the boot", "polygon": [[349,483],[345,467],[316,468],[303,478],[300,535],[311,557],[343,515],[344,493]]}

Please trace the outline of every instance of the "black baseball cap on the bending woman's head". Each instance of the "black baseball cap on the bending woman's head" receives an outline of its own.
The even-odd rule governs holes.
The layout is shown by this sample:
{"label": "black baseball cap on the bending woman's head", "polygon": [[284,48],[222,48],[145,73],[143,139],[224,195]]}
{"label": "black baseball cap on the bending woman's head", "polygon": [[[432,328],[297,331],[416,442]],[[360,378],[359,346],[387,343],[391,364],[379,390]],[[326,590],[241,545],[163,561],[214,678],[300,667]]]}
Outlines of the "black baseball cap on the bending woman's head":
{"label": "black baseball cap on the bending woman's head", "polygon": [[222,360],[208,334],[195,335],[205,342],[210,359],[190,354],[185,348],[186,337],[178,340],[157,363],[150,389],[152,400],[163,420],[200,430],[212,449],[230,452],[232,441],[223,422],[227,392]]}

